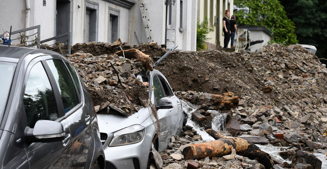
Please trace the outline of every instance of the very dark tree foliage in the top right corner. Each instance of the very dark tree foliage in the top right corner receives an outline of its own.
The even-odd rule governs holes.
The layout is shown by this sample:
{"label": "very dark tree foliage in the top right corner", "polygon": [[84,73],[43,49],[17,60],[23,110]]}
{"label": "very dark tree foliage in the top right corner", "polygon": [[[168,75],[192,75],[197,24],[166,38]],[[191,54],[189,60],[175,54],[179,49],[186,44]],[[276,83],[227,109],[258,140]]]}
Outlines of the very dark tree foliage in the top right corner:
{"label": "very dark tree foliage in the top right corner", "polygon": [[[325,57],[327,52],[327,2],[326,0],[280,0],[287,16],[296,26],[300,44],[314,45],[316,55]],[[321,62],[325,62],[321,60]]]}

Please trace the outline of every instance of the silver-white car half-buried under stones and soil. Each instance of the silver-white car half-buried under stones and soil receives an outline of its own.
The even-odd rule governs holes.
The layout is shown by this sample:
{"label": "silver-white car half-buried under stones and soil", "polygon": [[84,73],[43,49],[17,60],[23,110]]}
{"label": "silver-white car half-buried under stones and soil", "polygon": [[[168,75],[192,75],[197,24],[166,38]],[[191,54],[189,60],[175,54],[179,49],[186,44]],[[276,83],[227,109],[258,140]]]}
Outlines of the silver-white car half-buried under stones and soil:
{"label": "silver-white car half-buried under stones and soil", "polygon": [[160,135],[157,135],[157,120],[150,106],[141,108],[128,118],[98,114],[106,169],[145,169],[150,164],[152,148],[163,152],[171,136],[181,134],[185,116],[181,101],[167,79],[158,70],[137,77],[150,84],[149,98],[157,108]]}

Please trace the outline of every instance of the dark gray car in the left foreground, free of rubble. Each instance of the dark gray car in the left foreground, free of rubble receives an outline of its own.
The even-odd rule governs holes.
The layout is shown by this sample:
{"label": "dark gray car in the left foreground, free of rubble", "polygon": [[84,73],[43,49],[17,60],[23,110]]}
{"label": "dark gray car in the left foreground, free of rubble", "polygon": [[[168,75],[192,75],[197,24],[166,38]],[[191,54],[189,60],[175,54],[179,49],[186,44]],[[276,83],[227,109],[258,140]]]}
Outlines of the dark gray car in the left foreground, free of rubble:
{"label": "dark gray car in the left foreground, free of rubble", "polygon": [[0,45],[0,168],[105,168],[94,106],[73,65]]}

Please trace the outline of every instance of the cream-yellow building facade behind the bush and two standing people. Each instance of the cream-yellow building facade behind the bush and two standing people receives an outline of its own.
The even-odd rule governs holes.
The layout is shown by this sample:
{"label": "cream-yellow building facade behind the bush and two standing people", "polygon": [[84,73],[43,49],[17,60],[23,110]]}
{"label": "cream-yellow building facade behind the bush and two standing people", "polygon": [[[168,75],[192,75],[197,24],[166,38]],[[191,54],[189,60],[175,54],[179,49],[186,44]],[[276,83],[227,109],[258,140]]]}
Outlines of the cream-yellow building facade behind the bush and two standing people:
{"label": "cream-yellow building facade behind the bush and two standing people", "polygon": [[[208,49],[217,49],[224,46],[223,17],[225,10],[230,11],[230,18],[233,15],[233,0],[201,0],[198,1],[198,20],[208,19],[209,28],[212,30],[207,37]],[[229,44],[230,47],[230,44]]]}

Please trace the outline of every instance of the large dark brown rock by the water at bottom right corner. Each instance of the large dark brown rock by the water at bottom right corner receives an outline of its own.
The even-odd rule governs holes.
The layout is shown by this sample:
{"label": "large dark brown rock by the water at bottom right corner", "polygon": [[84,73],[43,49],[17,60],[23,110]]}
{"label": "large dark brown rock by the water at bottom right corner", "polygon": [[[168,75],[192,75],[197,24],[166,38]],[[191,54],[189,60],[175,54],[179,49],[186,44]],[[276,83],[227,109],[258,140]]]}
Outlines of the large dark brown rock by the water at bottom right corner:
{"label": "large dark brown rock by the water at bottom right corner", "polygon": [[292,163],[311,164],[313,169],[321,169],[321,161],[313,154],[298,150]]}

